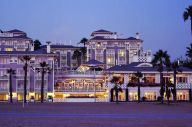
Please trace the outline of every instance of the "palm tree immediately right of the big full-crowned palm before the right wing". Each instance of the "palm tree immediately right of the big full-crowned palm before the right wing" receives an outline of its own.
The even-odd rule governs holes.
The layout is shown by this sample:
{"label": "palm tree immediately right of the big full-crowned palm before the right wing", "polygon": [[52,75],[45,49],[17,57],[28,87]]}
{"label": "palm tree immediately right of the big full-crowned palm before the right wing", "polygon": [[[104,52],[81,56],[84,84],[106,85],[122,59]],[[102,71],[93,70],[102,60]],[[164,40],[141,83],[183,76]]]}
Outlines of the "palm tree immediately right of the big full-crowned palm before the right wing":
{"label": "palm tree immediately right of the big full-crowned palm before the right wing", "polygon": [[177,74],[179,72],[182,72],[182,70],[180,69],[180,65],[178,63],[178,61],[174,61],[173,63],[171,63],[171,69],[173,71],[173,90],[172,90],[172,93],[173,93],[173,100],[176,101],[177,100],[177,91],[176,91],[176,77],[177,77]]}

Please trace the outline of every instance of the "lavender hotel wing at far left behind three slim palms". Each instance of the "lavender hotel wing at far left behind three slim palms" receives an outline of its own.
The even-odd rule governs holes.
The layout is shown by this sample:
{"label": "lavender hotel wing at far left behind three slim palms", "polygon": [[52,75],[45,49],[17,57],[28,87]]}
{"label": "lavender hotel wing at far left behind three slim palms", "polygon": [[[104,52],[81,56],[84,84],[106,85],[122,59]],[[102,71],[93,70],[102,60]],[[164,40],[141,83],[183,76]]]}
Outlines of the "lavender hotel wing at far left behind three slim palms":
{"label": "lavender hotel wing at far left behind three slim palms", "polygon": [[[47,62],[50,67],[54,67],[55,54],[50,52],[50,45],[47,49],[34,51],[33,41],[27,37],[25,32],[20,30],[2,31],[0,33],[0,100],[9,99],[9,74],[7,70],[12,68],[16,74],[12,77],[13,100],[23,99],[24,89],[24,62],[23,56],[30,56],[27,76],[27,98],[34,97],[40,99],[41,74],[35,71],[40,62]],[[46,96],[52,95],[54,91],[54,68],[45,75],[44,91]]]}

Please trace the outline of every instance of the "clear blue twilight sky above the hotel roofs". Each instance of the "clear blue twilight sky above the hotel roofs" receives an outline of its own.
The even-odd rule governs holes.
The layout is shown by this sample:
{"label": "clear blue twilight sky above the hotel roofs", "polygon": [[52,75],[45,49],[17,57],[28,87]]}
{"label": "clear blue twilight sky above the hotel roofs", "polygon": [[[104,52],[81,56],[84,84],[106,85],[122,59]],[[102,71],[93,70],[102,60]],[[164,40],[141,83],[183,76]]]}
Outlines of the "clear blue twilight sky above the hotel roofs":
{"label": "clear blue twilight sky above the hotel roofs", "polygon": [[192,42],[182,14],[190,0],[1,0],[0,29],[20,29],[41,42],[76,44],[106,29],[121,37],[141,34],[144,49],[185,55]]}

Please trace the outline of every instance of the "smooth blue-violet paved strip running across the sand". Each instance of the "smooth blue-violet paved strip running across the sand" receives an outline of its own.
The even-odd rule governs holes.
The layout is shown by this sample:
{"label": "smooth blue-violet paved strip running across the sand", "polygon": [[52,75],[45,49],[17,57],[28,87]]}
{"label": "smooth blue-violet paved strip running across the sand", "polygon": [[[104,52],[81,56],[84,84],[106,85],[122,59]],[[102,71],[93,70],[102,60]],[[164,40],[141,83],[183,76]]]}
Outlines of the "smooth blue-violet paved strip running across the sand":
{"label": "smooth blue-violet paved strip running across the sand", "polygon": [[0,118],[119,118],[119,119],[191,119],[191,113],[180,114],[65,114],[65,113],[0,113]]}

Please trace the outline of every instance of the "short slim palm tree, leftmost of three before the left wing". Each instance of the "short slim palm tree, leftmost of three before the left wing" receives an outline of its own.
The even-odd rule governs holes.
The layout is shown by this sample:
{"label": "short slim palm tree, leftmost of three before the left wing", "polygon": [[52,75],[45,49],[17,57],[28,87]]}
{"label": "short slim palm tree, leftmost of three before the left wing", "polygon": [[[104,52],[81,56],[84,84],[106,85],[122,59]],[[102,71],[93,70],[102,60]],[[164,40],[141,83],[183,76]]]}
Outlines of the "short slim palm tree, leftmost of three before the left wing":
{"label": "short slim palm tree, leftmost of three before the left wing", "polygon": [[7,73],[9,74],[9,93],[10,93],[10,103],[13,102],[13,90],[12,90],[12,75],[15,74],[15,70],[13,70],[12,68],[7,70]]}

